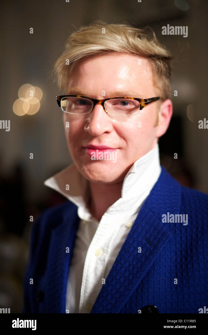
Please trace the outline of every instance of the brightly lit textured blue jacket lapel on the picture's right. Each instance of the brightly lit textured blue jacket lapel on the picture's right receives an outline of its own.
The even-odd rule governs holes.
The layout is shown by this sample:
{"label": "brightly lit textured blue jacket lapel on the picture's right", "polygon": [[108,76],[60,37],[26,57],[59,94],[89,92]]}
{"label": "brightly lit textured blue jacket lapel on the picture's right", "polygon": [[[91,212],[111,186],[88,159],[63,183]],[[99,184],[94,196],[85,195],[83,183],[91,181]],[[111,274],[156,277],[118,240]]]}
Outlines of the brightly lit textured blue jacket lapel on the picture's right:
{"label": "brightly lit textured blue jacket lapel on the picture's right", "polygon": [[[119,313],[170,235],[162,214],[179,213],[181,186],[162,167],[103,284],[91,313]],[[138,248],[141,253],[138,253]]]}

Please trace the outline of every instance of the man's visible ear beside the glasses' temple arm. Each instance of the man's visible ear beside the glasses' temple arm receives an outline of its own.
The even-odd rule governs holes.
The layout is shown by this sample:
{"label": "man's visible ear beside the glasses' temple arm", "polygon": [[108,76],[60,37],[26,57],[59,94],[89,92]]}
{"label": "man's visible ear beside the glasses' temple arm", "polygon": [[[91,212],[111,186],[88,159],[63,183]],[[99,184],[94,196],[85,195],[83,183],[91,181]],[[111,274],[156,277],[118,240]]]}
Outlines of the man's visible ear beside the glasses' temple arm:
{"label": "man's visible ear beside the glasses' temple arm", "polygon": [[156,136],[164,135],[169,127],[171,117],[173,115],[173,104],[170,99],[165,100],[160,107],[159,122],[157,126]]}

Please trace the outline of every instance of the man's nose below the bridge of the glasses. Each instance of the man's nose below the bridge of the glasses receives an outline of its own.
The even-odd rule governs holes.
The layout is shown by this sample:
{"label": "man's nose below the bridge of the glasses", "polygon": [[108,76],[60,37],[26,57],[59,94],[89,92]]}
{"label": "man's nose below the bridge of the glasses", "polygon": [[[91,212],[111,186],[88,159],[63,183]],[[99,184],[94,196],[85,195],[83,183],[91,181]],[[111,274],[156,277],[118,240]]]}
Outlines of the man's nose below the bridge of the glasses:
{"label": "man's nose below the bridge of the glasses", "polygon": [[112,120],[100,103],[97,103],[93,111],[88,114],[84,129],[92,136],[99,136],[112,130]]}

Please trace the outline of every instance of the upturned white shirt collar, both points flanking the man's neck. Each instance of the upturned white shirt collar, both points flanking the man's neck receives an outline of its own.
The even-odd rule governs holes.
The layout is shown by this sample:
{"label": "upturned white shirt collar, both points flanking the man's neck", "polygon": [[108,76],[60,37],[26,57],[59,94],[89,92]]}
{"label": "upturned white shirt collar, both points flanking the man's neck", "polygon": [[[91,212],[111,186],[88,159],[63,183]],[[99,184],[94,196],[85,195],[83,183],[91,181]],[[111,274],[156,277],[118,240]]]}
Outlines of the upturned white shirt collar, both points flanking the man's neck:
{"label": "upturned white shirt collar, both points flanking the man's neck", "polygon": [[[160,173],[159,145],[157,143],[147,154],[137,159],[129,169],[122,185],[121,202],[124,203],[125,199],[141,196],[149,187],[153,187]],[[61,193],[78,207],[86,208],[89,181],[82,176],[74,163],[45,180],[44,185]]]}

